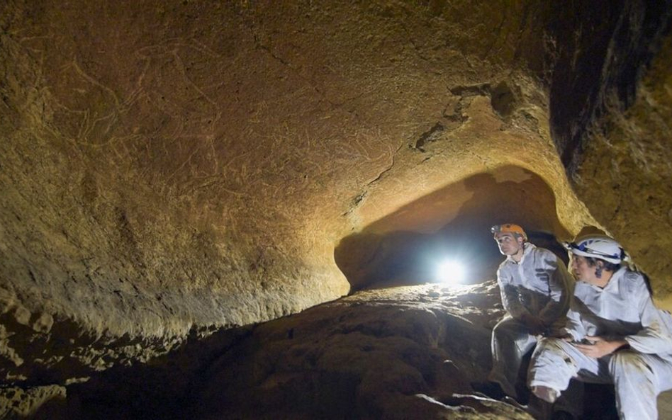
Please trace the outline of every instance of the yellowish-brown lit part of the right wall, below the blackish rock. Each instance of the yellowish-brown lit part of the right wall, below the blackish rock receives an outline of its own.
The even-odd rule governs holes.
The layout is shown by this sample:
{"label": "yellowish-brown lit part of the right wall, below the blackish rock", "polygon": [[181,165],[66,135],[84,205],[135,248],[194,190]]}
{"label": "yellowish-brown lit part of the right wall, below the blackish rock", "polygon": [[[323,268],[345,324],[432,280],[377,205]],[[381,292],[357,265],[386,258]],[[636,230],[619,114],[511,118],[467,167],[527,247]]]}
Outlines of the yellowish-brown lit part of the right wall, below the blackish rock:
{"label": "yellowish-brown lit part of the right wall, below the blackish rock", "polygon": [[619,112],[623,104],[609,98],[607,107],[614,109],[595,123],[573,171],[577,193],[596,203],[593,215],[651,275],[667,307],[672,306],[671,63],[668,36],[632,106]]}

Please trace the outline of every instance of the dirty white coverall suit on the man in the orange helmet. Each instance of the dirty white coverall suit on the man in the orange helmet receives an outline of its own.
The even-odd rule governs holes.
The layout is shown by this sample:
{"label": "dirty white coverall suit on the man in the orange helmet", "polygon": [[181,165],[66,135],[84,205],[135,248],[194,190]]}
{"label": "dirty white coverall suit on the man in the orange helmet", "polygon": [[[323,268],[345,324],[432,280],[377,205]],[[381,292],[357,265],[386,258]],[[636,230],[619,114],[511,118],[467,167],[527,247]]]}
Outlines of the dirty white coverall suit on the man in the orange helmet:
{"label": "dirty white coverall suit on the man in the orange helmet", "polygon": [[508,256],[500,264],[497,283],[508,315],[493,329],[493,369],[488,380],[517,397],[515,383],[522,358],[537,344],[537,336],[520,318],[537,317],[547,326],[547,334],[559,331],[569,309],[573,278],[551,251],[526,243],[519,263]]}

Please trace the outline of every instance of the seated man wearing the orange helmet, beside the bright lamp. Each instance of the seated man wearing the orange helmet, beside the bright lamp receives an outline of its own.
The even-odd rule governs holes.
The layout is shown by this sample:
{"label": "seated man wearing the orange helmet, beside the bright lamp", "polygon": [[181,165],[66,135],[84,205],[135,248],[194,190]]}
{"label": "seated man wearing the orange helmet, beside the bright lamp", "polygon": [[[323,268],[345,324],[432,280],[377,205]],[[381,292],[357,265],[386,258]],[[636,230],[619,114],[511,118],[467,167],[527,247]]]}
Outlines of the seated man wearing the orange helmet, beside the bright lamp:
{"label": "seated man wearing the orange helmet, beside the bright lamp", "polygon": [[525,404],[525,380],[517,380],[522,361],[539,337],[556,334],[564,326],[573,279],[555,254],[527,242],[519,225],[497,225],[492,232],[506,256],[497,282],[508,313],[493,329],[490,382],[476,389],[497,399],[509,395]]}

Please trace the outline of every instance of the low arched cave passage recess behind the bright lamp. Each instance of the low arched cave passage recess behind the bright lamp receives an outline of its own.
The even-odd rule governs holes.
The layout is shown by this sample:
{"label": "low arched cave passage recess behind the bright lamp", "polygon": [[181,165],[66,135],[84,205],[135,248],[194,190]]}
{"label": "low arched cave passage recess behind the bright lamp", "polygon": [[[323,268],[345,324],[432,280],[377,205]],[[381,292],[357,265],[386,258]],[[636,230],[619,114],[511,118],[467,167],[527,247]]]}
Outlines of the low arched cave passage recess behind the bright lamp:
{"label": "low arched cave passage recess behind the bright lamp", "polygon": [[494,278],[503,257],[490,227],[522,225],[530,242],[567,261],[556,238],[569,239],[556,213],[549,185],[519,166],[469,176],[403,206],[342,239],[337,266],[351,290],[437,281],[445,259],[466,269],[464,283]]}

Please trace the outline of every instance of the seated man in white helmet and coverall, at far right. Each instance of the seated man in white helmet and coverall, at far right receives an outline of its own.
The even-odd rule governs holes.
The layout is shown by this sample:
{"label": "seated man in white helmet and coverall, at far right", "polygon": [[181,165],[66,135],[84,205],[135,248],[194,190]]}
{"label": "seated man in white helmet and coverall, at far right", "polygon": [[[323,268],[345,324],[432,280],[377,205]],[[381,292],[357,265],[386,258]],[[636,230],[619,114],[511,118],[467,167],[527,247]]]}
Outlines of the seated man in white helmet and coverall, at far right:
{"label": "seated man in white helmet and coverall, at far right", "polygon": [[540,341],[528,385],[554,402],[571,378],[615,385],[620,419],[657,419],[656,396],[672,388],[672,317],[648,282],[622,262],[620,244],[591,236],[567,244],[576,290],[563,338]]}

